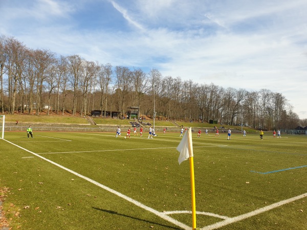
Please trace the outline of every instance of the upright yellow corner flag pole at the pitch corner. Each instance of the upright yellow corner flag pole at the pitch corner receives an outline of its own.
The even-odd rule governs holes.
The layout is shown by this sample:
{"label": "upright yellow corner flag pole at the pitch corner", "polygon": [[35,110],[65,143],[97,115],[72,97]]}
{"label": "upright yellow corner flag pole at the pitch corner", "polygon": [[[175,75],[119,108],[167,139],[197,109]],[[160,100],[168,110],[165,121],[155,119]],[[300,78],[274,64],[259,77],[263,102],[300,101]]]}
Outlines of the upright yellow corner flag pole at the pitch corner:
{"label": "upright yellow corner flag pole at the pitch corner", "polygon": [[195,181],[194,181],[194,160],[193,160],[193,144],[192,131],[188,129],[188,149],[190,161],[190,177],[191,177],[191,197],[192,197],[192,229],[196,229],[196,205],[195,205]]}

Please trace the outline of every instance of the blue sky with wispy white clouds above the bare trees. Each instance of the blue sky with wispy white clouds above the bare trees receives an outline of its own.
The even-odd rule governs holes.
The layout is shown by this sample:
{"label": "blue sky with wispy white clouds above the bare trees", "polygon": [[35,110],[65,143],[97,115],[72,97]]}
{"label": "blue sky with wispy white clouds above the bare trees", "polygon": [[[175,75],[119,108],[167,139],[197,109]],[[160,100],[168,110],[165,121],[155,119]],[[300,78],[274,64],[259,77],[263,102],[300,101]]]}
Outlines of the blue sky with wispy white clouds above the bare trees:
{"label": "blue sky with wispy white clouds above the bare trees", "polygon": [[0,0],[33,49],[224,88],[281,93],[307,118],[306,0]]}

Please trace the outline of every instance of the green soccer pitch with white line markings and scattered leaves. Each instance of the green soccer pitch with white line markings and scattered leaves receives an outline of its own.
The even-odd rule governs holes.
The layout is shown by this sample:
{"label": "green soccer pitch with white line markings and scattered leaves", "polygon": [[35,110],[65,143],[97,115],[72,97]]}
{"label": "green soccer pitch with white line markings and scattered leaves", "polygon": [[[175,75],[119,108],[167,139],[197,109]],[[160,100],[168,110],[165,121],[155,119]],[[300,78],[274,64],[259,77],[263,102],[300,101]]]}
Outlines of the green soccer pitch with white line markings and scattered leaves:
{"label": "green soccer pitch with white line markings and scattered leaves", "polygon": [[[192,229],[180,133],[6,132],[4,210],[21,229]],[[193,133],[200,229],[307,229],[307,137]],[[11,205],[11,206],[10,206]],[[18,214],[16,215],[16,213]]]}

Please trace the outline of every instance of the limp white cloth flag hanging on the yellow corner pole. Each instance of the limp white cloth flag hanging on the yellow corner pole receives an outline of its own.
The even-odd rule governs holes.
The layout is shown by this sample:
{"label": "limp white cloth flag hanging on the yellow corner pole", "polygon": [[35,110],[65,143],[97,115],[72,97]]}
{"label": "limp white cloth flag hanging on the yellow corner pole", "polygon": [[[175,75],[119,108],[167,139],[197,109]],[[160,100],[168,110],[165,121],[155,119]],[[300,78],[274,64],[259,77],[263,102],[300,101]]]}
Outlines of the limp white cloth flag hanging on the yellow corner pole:
{"label": "limp white cloth flag hanging on the yellow corner pole", "polygon": [[187,160],[189,157],[193,156],[193,146],[192,146],[192,131],[191,128],[185,132],[184,136],[182,137],[181,142],[179,143],[177,150],[180,152],[178,162],[179,165],[184,161]]}

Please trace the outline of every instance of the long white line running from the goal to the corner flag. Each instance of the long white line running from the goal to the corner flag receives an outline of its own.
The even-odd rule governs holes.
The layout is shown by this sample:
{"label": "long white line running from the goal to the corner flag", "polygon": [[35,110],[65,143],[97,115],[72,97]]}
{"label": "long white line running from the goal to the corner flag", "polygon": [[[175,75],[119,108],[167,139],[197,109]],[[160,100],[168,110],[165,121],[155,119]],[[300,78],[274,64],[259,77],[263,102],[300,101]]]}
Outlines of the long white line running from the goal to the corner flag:
{"label": "long white line running from the goal to the corner flag", "polygon": [[131,202],[131,203],[133,203],[133,204],[135,204],[135,205],[137,205],[137,206],[139,206],[140,208],[142,208],[142,209],[144,209],[144,210],[146,210],[146,211],[148,211],[148,212],[151,212],[151,213],[153,213],[153,214],[159,216],[160,218],[162,218],[162,219],[164,219],[164,220],[167,220],[167,221],[170,222],[170,223],[173,223],[173,224],[175,224],[175,225],[177,225],[177,226],[179,226],[179,227],[181,227],[181,228],[183,228],[183,229],[185,229],[185,230],[190,230],[190,229],[191,229],[190,226],[188,226],[188,225],[186,225],[186,224],[184,224],[184,223],[181,223],[181,222],[179,222],[178,220],[175,220],[175,219],[173,219],[173,218],[167,216],[167,215],[164,214],[163,212],[159,212],[159,211],[157,211],[157,210],[155,210],[155,209],[152,209],[152,208],[146,206],[145,204],[142,204],[142,203],[140,203],[139,201],[137,201],[137,200],[135,200],[135,199],[132,199],[132,198],[130,198],[130,197],[128,197],[128,196],[126,196],[126,195],[120,193],[120,192],[117,192],[116,190],[113,190],[113,189],[111,189],[111,188],[108,188],[108,187],[102,185],[101,183],[99,183],[99,182],[97,182],[97,181],[95,181],[95,180],[93,180],[93,179],[91,179],[91,178],[89,178],[89,177],[83,176],[83,175],[81,175],[81,174],[79,174],[79,173],[77,173],[77,172],[75,172],[75,171],[73,171],[73,170],[70,170],[70,169],[68,169],[68,168],[65,168],[65,167],[63,167],[63,166],[61,166],[61,165],[59,165],[59,164],[53,162],[53,161],[50,160],[50,159],[47,159],[47,158],[45,158],[45,157],[43,157],[43,156],[40,156],[40,155],[38,155],[38,154],[36,154],[36,153],[34,153],[34,152],[28,150],[28,149],[25,149],[25,148],[23,148],[23,147],[21,147],[21,146],[18,146],[18,145],[16,145],[16,144],[14,144],[14,143],[12,143],[12,142],[9,142],[9,141],[7,141],[7,140],[4,140],[4,141],[6,141],[6,142],[8,142],[8,143],[10,143],[10,144],[12,144],[12,145],[14,145],[14,146],[20,148],[20,149],[23,149],[23,150],[25,150],[25,151],[27,151],[27,152],[29,152],[29,153],[32,153],[33,155],[35,155],[35,156],[37,156],[37,157],[39,157],[39,158],[41,158],[41,159],[43,159],[43,160],[46,160],[47,162],[49,162],[49,163],[51,163],[51,164],[53,164],[53,165],[55,165],[55,166],[58,166],[59,168],[61,168],[61,169],[63,169],[63,170],[66,170],[66,171],[68,171],[68,172],[70,172],[70,173],[72,173],[72,174],[74,174],[74,175],[76,175],[76,176],[78,176],[78,177],[81,177],[82,179],[85,179],[85,180],[87,180],[87,181],[93,183],[94,185],[96,185],[96,186],[98,186],[98,187],[100,187],[100,188],[102,188],[102,189],[104,189],[104,190],[106,190],[106,191],[108,191],[108,192],[111,192],[111,193],[113,193],[113,194],[115,194],[115,195],[117,195],[117,196],[119,196],[119,197],[121,197],[121,198],[123,198],[123,199],[125,199],[125,200],[127,200],[127,201],[129,201],[129,202]]}

